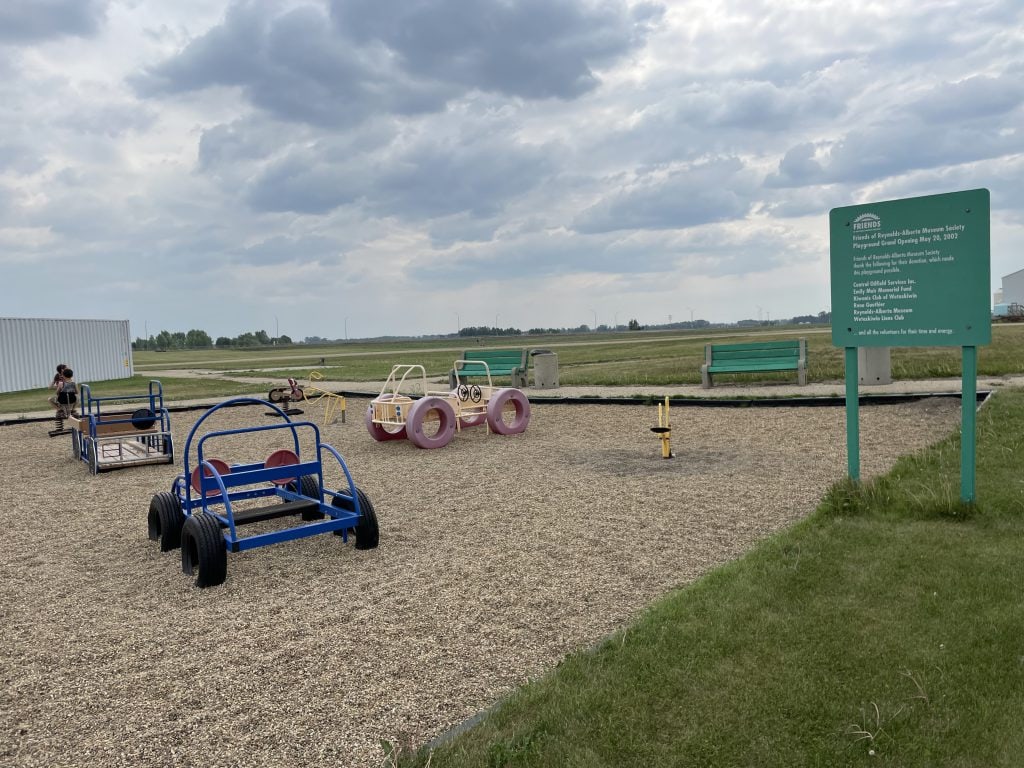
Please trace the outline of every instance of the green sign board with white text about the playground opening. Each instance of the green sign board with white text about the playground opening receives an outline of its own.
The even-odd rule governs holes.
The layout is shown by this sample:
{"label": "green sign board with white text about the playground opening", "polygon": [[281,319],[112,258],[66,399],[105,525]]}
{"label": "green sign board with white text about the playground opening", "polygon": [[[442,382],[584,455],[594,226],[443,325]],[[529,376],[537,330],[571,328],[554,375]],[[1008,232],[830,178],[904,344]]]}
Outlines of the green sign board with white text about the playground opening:
{"label": "green sign board with white text about the playground opening", "polygon": [[988,189],[834,208],[828,223],[833,344],[991,342]]}

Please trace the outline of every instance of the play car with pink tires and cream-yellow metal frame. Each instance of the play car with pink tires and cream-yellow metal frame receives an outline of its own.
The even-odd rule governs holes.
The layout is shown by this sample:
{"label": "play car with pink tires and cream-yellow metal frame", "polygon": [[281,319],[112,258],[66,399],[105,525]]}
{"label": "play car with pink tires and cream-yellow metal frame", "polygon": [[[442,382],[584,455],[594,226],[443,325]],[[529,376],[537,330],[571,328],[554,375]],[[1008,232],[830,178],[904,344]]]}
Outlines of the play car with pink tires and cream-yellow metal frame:
{"label": "play car with pink tires and cream-yellow metal frame", "polygon": [[[461,381],[458,373],[463,365],[482,366],[487,384]],[[367,409],[366,425],[371,437],[379,441],[408,437],[417,447],[434,449],[446,445],[463,427],[486,424],[488,431],[505,435],[526,429],[529,400],[514,387],[496,389],[486,362],[456,360],[455,372],[454,389],[429,391],[423,366],[393,366],[380,394]],[[417,378],[422,392],[418,399],[402,391]]]}

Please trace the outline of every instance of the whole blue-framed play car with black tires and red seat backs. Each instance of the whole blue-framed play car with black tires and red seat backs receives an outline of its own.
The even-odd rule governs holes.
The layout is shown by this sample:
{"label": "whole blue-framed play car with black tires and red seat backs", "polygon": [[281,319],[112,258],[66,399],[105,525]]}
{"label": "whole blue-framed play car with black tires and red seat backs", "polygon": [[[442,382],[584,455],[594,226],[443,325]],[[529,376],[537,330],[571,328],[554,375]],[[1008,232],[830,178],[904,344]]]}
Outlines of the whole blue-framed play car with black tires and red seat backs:
{"label": "whole blue-framed play car with black tires and red seat backs", "polygon": [[[268,426],[208,431],[207,419],[222,408],[256,404],[269,407],[284,419]],[[208,446],[233,435],[269,432],[284,437],[288,447],[271,453],[264,462],[228,464],[209,458]],[[314,445],[313,457],[300,456],[299,436]],[[338,462],[344,487],[324,486],[324,458]],[[341,455],[321,441],[319,429],[311,422],[294,422],[280,407],[253,397],[236,397],[214,406],[199,418],[188,433],[184,450],[184,472],[170,492],[150,502],[148,535],[160,542],[163,552],[181,548],[181,570],[196,577],[196,586],[213,587],[227,577],[227,552],[244,552],[280,542],[334,534],[355,549],[373,549],[380,539],[377,514],[366,494],[355,486]],[[256,508],[237,508],[239,502],[267,499]],[[245,505],[243,505],[245,506]],[[241,536],[239,527],[254,522],[295,517],[301,523],[269,532]],[[325,519],[325,517],[327,519]]]}

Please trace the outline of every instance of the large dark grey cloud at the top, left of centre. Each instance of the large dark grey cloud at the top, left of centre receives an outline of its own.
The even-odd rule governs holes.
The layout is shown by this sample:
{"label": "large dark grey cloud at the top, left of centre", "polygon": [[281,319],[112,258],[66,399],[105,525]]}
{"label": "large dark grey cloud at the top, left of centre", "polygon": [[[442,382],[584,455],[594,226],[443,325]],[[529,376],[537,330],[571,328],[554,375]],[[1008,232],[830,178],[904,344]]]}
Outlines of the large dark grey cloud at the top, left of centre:
{"label": "large dark grey cloud at the top, left of centre", "polygon": [[336,0],[276,14],[251,0],[178,54],[132,78],[148,97],[243,90],[280,120],[323,127],[441,110],[469,90],[571,98],[642,45],[658,6],[621,0]]}

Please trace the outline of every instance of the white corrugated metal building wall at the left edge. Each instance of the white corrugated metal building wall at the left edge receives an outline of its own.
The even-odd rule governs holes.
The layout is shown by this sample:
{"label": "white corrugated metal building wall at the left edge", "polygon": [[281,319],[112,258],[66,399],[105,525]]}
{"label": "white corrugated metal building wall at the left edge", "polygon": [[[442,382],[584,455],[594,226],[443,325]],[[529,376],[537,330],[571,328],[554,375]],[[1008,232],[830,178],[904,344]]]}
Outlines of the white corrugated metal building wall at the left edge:
{"label": "white corrugated metal building wall at the left edge", "polygon": [[58,362],[82,383],[130,378],[128,321],[0,317],[0,392],[48,387]]}

